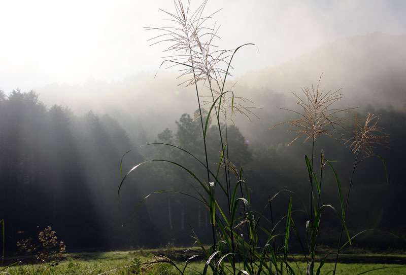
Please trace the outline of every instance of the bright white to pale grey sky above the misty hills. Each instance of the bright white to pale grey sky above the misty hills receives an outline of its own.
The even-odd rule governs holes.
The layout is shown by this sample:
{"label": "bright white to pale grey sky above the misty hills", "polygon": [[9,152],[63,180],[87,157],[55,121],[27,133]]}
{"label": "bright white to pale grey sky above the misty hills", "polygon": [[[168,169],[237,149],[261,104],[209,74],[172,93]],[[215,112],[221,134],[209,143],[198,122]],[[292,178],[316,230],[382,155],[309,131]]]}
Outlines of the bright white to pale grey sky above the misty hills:
{"label": "bright white to pale grey sky above the misty hills", "polygon": [[[184,1],[186,5],[186,1]],[[192,0],[192,9],[201,1]],[[47,84],[122,80],[156,72],[164,47],[149,47],[165,26],[169,0],[0,0],[0,89],[8,94]],[[406,34],[406,1],[211,0],[221,24],[217,43],[254,43],[235,59],[234,75],[277,65],[339,38],[382,31]],[[214,21],[213,21],[214,23]]]}

